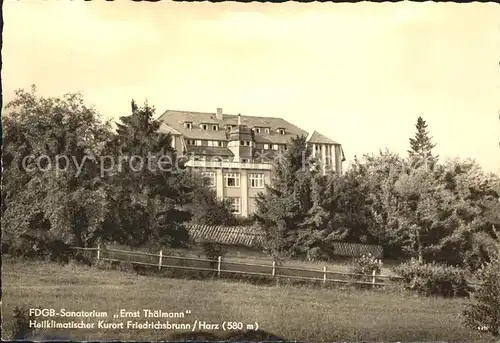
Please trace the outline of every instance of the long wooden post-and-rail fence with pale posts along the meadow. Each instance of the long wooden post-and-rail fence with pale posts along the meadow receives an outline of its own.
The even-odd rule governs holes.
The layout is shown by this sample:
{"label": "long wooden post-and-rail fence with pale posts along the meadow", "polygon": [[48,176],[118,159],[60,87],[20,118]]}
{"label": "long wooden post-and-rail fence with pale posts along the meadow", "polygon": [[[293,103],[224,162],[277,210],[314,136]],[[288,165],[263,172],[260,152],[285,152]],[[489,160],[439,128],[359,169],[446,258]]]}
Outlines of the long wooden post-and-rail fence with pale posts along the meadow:
{"label": "long wooden post-and-rail fence with pale posts along the meadow", "polygon": [[217,260],[209,260],[192,257],[179,257],[164,255],[160,250],[158,254],[151,254],[138,251],[125,251],[118,249],[109,249],[98,246],[97,248],[74,248],[76,250],[95,251],[96,259],[109,262],[128,262],[137,266],[148,266],[161,270],[191,270],[212,272],[212,275],[221,277],[222,275],[241,275],[257,276],[266,278],[284,278],[299,281],[311,281],[322,283],[344,283],[371,286],[384,286],[387,283],[384,280],[401,280],[401,277],[389,275],[377,275],[375,271],[371,275],[345,273],[340,271],[328,270],[324,266],[322,270],[305,269],[287,266],[277,266],[272,264],[241,263],[224,261],[222,257]]}

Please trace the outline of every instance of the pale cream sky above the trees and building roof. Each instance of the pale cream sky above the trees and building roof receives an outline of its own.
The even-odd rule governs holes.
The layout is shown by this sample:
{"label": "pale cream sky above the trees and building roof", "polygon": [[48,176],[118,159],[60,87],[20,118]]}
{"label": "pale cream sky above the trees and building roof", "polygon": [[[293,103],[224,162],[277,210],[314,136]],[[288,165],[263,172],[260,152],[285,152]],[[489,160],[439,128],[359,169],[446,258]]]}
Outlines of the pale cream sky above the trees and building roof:
{"label": "pale cream sky above the trees and building roof", "polygon": [[495,3],[3,2],[4,103],[83,93],[105,118],[130,100],[282,117],[348,161],[406,154],[422,116],[445,158],[500,173]]}

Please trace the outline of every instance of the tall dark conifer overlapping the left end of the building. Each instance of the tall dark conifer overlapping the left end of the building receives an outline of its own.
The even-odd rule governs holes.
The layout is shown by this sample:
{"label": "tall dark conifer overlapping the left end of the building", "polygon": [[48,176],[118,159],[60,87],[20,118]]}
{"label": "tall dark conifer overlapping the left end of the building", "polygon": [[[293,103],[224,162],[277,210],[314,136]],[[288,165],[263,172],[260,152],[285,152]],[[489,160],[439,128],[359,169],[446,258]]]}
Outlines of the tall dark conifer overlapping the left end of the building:
{"label": "tall dark conifer overlapping the left end of the building", "polygon": [[119,228],[114,238],[124,244],[182,245],[188,238],[182,223],[190,214],[179,205],[189,192],[182,181],[189,178],[176,170],[172,137],[158,132],[154,107],[132,101],[131,110],[117,124],[114,159],[118,164],[109,175],[113,211],[107,231],[111,234]]}

